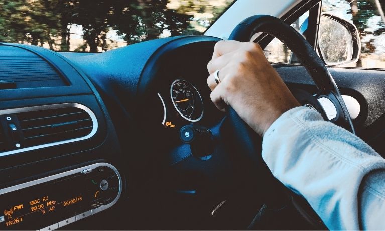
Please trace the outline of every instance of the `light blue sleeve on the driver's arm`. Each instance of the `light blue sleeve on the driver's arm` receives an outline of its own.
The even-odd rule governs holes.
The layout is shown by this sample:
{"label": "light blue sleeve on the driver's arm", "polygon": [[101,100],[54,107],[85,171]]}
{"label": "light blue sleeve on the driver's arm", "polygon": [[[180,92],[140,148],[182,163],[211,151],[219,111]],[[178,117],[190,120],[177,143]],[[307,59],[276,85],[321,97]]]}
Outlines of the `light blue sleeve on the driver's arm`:
{"label": "light blue sleeve on the driver's arm", "polygon": [[266,131],[262,157],[332,230],[385,230],[385,160],[357,136],[297,107]]}

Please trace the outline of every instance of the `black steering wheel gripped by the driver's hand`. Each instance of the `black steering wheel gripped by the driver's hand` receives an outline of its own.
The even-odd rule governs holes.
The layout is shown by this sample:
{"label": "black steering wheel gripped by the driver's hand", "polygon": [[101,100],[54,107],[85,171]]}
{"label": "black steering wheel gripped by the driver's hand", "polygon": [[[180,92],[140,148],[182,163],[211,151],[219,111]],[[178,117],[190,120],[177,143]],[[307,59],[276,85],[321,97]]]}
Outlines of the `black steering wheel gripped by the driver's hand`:
{"label": "black steering wheel gripped by the driver's hand", "polygon": [[[251,37],[259,32],[270,34],[281,40],[299,58],[313,79],[318,92],[315,95],[309,93],[304,94],[303,92],[300,92],[300,94],[293,92],[297,100],[302,105],[311,104],[323,115],[324,119],[327,120],[327,117],[317,100],[319,98],[327,98],[333,103],[337,111],[335,118],[330,121],[354,133],[354,127],[349,112],[333,77],[311,45],[293,27],[273,16],[255,15],[239,23],[232,31],[229,40],[249,42]],[[258,162],[259,166],[267,168],[266,164],[263,163],[261,165],[261,162],[263,162],[262,158],[256,155],[261,148],[256,147],[255,140],[250,138],[255,137],[255,132],[251,130],[231,107],[227,109],[227,117],[231,121],[230,124],[233,126],[234,145],[241,147],[240,152]],[[269,176],[266,176],[267,172],[269,173]],[[270,175],[270,171],[264,171],[264,174],[265,179],[263,180],[263,183],[267,191],[266,194],[277,194],[286,190],[280,182]],[[307,216],[305,218],[313,223],[315,227],[317,227],[317,225],[320,227],[320,219],[316,216],[314,210],[310,208],[310,205],[306,203],[303,198],[296,197],[294,193],[290,194],[297,198],[297,201],[303,200],[296,203],[294,206],[297,210],[301,210],[300,213],[303,216]],[[280,195],[276,195],[275,198],[280,198],[282,196],[285,195],[281,193]]]}

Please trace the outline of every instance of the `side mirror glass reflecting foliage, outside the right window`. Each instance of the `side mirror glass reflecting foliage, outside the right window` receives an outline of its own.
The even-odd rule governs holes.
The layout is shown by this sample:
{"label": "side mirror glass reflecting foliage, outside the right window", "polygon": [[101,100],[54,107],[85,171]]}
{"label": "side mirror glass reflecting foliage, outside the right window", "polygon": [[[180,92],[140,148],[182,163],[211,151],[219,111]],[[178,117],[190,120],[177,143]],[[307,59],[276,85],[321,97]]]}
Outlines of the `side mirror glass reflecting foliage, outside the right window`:
{"label": "side mirror glass reflecting foliage, outside the right window", "polygon": [[354,24],[329,13],[322,13],[318,31],[318,53],[326,65],[357,62],[361,41]]}

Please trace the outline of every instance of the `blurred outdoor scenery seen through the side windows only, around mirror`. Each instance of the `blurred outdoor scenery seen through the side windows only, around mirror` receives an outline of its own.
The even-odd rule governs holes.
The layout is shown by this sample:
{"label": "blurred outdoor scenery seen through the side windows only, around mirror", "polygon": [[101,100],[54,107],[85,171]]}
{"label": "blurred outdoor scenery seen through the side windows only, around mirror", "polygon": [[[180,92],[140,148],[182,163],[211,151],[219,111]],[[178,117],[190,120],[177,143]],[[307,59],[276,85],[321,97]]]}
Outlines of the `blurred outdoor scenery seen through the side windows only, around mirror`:
{"label": "blurred outdoor scenery seen through the side windows only, around mirror", "polygon": [[[347,67],[385,69],[385,0],[323,0],[322,12],[328,12],[353,23],[360,34],[361,55],[356,63]],[[299,30],[309,12],[292,24]],[[337,39],[333,45],[338,46]],[[265,49],[270,62],[289,63],[291,51],[274,39]]]}

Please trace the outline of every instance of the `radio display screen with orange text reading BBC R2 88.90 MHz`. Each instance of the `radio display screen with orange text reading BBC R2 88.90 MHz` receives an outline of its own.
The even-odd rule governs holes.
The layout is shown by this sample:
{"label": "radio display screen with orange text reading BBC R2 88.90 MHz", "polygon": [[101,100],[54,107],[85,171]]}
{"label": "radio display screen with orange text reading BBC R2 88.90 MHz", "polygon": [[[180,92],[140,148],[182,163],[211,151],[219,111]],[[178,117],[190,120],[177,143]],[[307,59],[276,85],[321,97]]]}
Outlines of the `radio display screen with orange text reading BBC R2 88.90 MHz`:
{"label": "radio display screen with orange text reading BBC R2 88.90 MHz", "polygon": [[0,195],[0,229],[36,230],[90,210],[91,195],[87,191],[84,176],[76,174],[70,179],[62,178]]}

